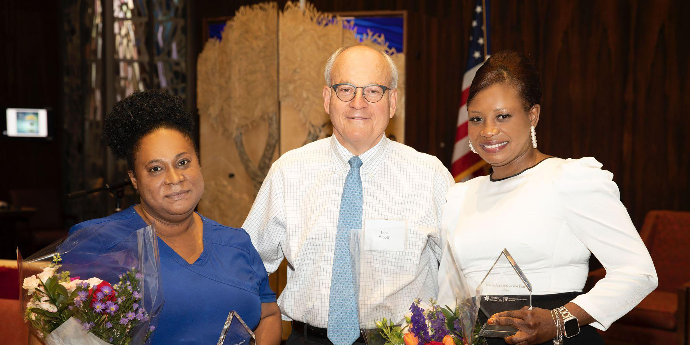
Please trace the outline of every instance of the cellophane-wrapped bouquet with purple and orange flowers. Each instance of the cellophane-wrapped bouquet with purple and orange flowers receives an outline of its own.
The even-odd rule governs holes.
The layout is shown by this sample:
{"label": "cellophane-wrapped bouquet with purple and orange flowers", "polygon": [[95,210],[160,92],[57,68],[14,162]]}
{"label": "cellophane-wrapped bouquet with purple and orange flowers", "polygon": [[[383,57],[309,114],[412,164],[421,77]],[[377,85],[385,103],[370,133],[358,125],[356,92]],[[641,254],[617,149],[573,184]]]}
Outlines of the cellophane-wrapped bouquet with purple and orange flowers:
{"label": "cellophane-wrapped bouquet with purple and orange flowers", "polygon": [[[357,286],[359,326],[368,345],[481,345],[476,327],[479,305],[446,246],[440,267],[439,295],[418,296],[399,310],[391,292],[405,288],[408,275],[419,272],[391,267],[386,254],[366,250],[362,230],[353,230],[350,255]],[[382,283],[386,282],[386,284]],[[393,284],[391,284],[391,282]],[[396,285],[397,283],[397,285]],[[437,298],[436,298],[437,297]]]}

